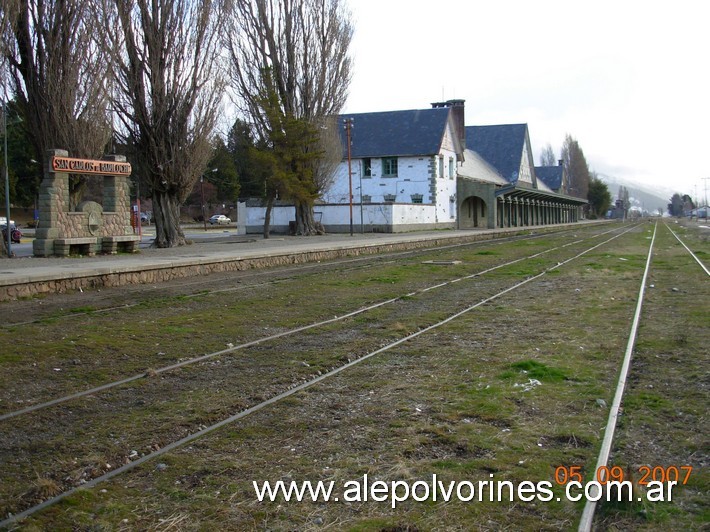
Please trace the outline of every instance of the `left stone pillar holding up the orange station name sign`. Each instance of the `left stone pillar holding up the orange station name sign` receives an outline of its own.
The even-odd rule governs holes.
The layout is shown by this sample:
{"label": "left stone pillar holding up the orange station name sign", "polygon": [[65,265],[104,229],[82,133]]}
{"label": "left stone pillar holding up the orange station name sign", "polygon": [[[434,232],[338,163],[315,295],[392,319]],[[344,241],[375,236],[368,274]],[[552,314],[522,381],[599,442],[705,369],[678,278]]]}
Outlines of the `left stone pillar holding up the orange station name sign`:
{"label": "left stone pillar holding up the orange station name sign", "polygon": [[59,218],[69,211],[69,174],[52,169],[52,157],[68,157],[66,150],[47,150],[44,178],[39,187],[39,224],[35,230],[32,252],[46,257],[54,254],[54,239],[60,234]]}

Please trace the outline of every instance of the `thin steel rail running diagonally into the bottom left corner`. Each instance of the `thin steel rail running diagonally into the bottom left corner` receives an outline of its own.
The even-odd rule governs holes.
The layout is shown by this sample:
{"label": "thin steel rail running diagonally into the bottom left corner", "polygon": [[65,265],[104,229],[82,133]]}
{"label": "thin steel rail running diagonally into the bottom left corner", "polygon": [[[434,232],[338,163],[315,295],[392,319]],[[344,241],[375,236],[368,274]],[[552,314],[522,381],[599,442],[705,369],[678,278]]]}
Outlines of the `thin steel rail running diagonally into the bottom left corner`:
{"label": "thin steel rail running diagonally into the bottom left corner", "polygon": [[[379,355],[379,354],[381,354],[381,353],[384,353],[384,352],[386,352],[386,351],[389,351],[390,349],[392,349],[392,348],[394,348],[394,347],[397,347],[397,346],[402,345],[402,344],[404,344],[404,343],[406,343],[406,342],[409,342],[410,340],[413,340],[414,338],[417,338],[418,336],[421,336],[421,335],[423,335],[423,334],[425,334],[425,333],[428,333],[428,332],[430,332],[430,331],[432,331],[432,330],[434,330],[434,329],[438,329],[439,327],[442,327],[442,326],[444,326],[444,325],[446,325],[446,324],[448,324],[448,323],[450,323],[450,322],[456,320],[457,318],[460,318],[461,316],[463,316],[463,315],[465,315],[465,314],[471,312],[472,310],[477,309],[477,308],[479,308],[479,307],[481,307],[481,306],[483,306],[483,305],[485,305],[485,304],[487,304],[487,303],[490,303],[491,301],[494,301],[494,300],[496,300],[496,299],[498,299],[498,298],[500,298],[500,297],[502,297],[502,296],[504,296],[504,295],[506,295],[506,294],[508,294],[508,293],[510,293],[510,292],[512,292],[512,291],[514,291],[514,290],[517,290],[518,288],[520,288],[520,287],[522,287],[522,286],[524,286],[524,285],[526,285],[526,284],[528,284],[528,283],[531,283],[532,281],[535,281],[535,280],[537,280],[537,279],[539,279],[539,278],[541,278],[541,277],[547,275],[549,272],[554,271],[554,270],[560,268],[561,266],[564,266],[565,264],[568,264],[569,262],[572,262],[573,260],[576,260],[576,259],[578,259],[578,258],[580,258],[580,257],[582,257],[582,256],[584,256],[584,255],[586,255],[586,254],[589,253],[590,251],[593,251],[593,250],[595,250],[595,249],[597,249],[597,248],[603,246],[604,244],[607,244],[607,243],[609,243],[609,242],[611,242],[611,241],[613,241],[613,240],[615,240],[615,239],[617,239],[617,238],[619,238],[619,237],[625,235],[625,234],[628,233],[629,231],[635,229],[635,227],[636,227],[636,226],[633,226],[633,227],[627,229],[626,231],[624,231],[624,232],[622,232],[622,233],[619,233],[619,234],[617,234],[617,235],[614,235],[614,236],[612,236],[611,238],[609,238],[609,239],[607,239],[607,240],[605,240],[605,241],[603,241],[603,242],[600,242],[600,243],[598,243],[598,244],[592,246],[591,248],[587,248],[586,250],[584,250],[584,251],[582,251],[582,252],[580,252],[580,253],[574,255],[573,257],[570,257],[570,258],[568,258],[568,259],[566,259],[566,260],[564,260],[564,261],[560,261],[560,262],[558,262],[557,264],[555,264],[555,265],[553,265],[553,266],[551,266],[551,267],[549,267],[549,268],[545,268],[542,272],[540,272],[540,273],[538,273],[538,274],[536,274],[536,275],[533,275],[533,276],[531,276],[531,277],[528,277],[528,278],[526,278],[526,279],[524,279],[524,280],[522,280],[522,281],[520,281],[520,282],[517,282],[517,283],[513,284],[512,286],[510,286],[510,287],[508,287],[508,288],[506,288],[506,289],[504,289],[504,290],[501,290],[500,292],[498,292],[498,293],[496,293],[496,294],[494,294],[494,295],[492,295],[492,296],[489,296],[489,297],[487,297],[487,298],[485,298],[485,299],[482,299],[482,300],[479,301],[478,303],[475,303],[475,304],[473,304],[473,305],[470,305],[470,306],[466,307],[465,309],[463,309],[463,310],[461,310],[461,311],[459,311],[459,312],[456,312],[455,314],[452,314],[451,316],[449,316],[449,317],[447,317],[447,318],[445,318],[445,319],[443,319],[443,320],[441,320],[441,321],[439,321],[439,322],[437,322],[437,323],[434,323],[434,324],[432,324],[432,325],[429,325],[428,327],[425,327],[425,328],[423,328],[423,329],[420,329],[420,330],[418,330],[418,331],[416,331],[416,332],[414,332],[414,333],[412,333],[412,334],[409,334],[409,335],[407,335],[407,336],[405,336],[405,337],[403,337],[403,338],[400,338],[399,340],[396,340],[396,341],[394,341],[394,342],[391,342],[391,343],[389,343],[389,344],[387,344],[387,345],[385,345],[385,346],[383,346],[383,347],[377,349],[376,351],[372,351],[372,352],[370,352],[370,353],[366,353],[365,355],[362,355],[362,356],[359,357],[359,358],[356,358],[356,359],[354,359],[354,360],[352,360],[352,361],[350,361],[350,362],[348,362],[348,363],[346,363],[346,364],[343,364],[342,366],[339,366],[339,367],[337,367],[337,368],[334,368],[334,369],[332,369],[332,370],[330,370],[330,371],[328,371],[328,372],[326,372],[326,373],[324,373],[324,374],[322,374],[322,375],[319,375],[319,376],[317,376],[317,377],[314,377],[313,379],[311,379],[311,380],[309,380],[309,381],[307,381],[307,382],[304,382],[304,383],[302,383],[302,384],[299,384],[299,385],[296,385],[296,386],[294,386],[294,387],[292,387],[292,388],[289,388],[288,390],[286,390],[286,391],[284,391],[284,392],[281,392],[281,393],[279,393],[279,394],[277,394],[277,395],[274,395],[273,397],[271,397],[271,398],[269,398],[269,399],[266,399],[266,400],[262,401],[261,403],[258,403],[258,404],[254,405],[254,406],[251,406],[251,407],[249,407],[249,408],[247,408],[247,409],[245,409],[245,410],[242,410],[241,412],[238,412],[238,413],[236,413],[236,414],[234,414],[234,415],[232,415],[232,416],[230,416],[230,417],[227,417],[227,418],[225,418],[225,419],[223,419],[223,420],[221,420],[221,421],[219,421],[219,422],[217,422],[217,423],[214,423],[213,425],[210,425],[210,426],[208,426],[208,427],[205,427],[205,428],[203,428],[203,429],[201,429],[201,430],[199,430],[199,431],[197,431],[197,432],[194,432],[193,434],[190,434],[190,435],[188,435],[188,436],[186,436],[186,437],[184,437],[184,438],[181,438],[180,440],[176,440],[176,441],[174,441],[174,442],[172,442],[172,443],[169,443],[169,444],[165,445],[164,447],[162,447],[162,448],[160,448],[160,449],[158,449],[158,450],[156,450],[156,451],[153,451],[153,452],[151,452],[151,453],[149,453],[149,454],[146,454],[145,456],[142,456],[142,457],[138,458],[137,460],[134,460],[134,461],[132,461],[132,462],[129,462],[129,463],[127,463],[127,464],[124,464],[123,466],[121,466],[121,467],[119,467],[119,468],[116,468],[116,469],[114,469],[114,470],[112,470],[112,471],[109,471],[109,472],[107,472],[107,473],[105,473],[105,474],[103,474],[103,475],[101,475],[101,476],[99,476],[99,477],[95,477],[95,478],[93,478],[93,479],[91,479],[91,480],[85,482],[85,483],[82,484],[81,486],[75,486],[75,487],[73,487],[73,488],[70,488],[69,490],[67,490],[67,491],[65,491],[65,492],[62,492],[62,493],[60,493],[59,495],[56,495],[56,496],[54,496],[54,497],[52,497],[52,498],[50,498],[50,499],[47,499],[47,500],[45,500],[45,501],[43,501],[43,502],[41,502],[41,503],[39,503],[39,504],[37,504],[37,505],[35,505],[35,506],[32,506],[32,507],[30,507],[30,508],[28,508],[28,509],[26,509],[26,510],[24,510],[24,511],[18,513],[18,514],[11,515],[10,517],[8,517],[7,519],[5,519],[4,521],[1,521],[1,522],[0,522],[0,528],[1,528],[1,527],[8,527],[8,526],[10,526],[10,525],[12,525],[12,524],[14,524],[14,523],[17,523],[18,521],[21,521],[22,519],[24,519],[24,518],[26,518],[26,517],[29,517],[29,516],[31,516],[32,514],[38,512],[38,511],[40,511],[40,510],[43,510],[43,509],[45,509],[45,508],[47,508],[47,507],[49,507],[49,506],[52,506],[52,505],[54,505],[54,504],[60,502],[61,500],[63,500],[63,499],[65,499],[65,498],[69,497],[70,495],[76,493],[76,492],[79,491],[79,490],[93,488],[93,487],[95,487],[96,485],[98,485],[98,484],[100,484],[100,483],[102,483],[102,482],[105,482],[105,481],[107,481],[107,480],[110,480],[110,479],[112,479],[112,478],[114,478],[114,477],[116,477],[116,476],[122,474],[122,473],[125,473],[125,472],[127,472],[127,471],[132,470],[132,469],[135,469],[136,467],[138,467],[138,466],[140,466],[140,465],[142,465],[142,464],[144,464],[144,463],[146,463],[146,462],[148,462],[148,461],[150,461],[150,460],[153,460],[153,459],[155,459],[155,458],[157,458],[157,457],[159,457],[159,456],[162,456],[162,455],[164,455],[165,453],[168,453],[168,452],[173,451],[173,450],[175,450],[175,449],[177,449],[177,448],[179,448],[179,447],[182,447],[182,446],[186,445],[187,443],[190,443],[190,442],[192,442],[192,441],[194,441],[194,440],[196,440],[196,439],[198,439],[198,438],[201,438],[202,436],[205,436],[205,435],[207,435],[207,434],[210,434],[211,432],[214,432],[215,430],[218,430],[218,429],[220,429],[220,428],[222,428],[222,427],[224,427],[224,426],[226,426],[226,425],[229,425],[229,424],[231,424],[231,423],[234,423],[235,421],[238,421],[238,420],[240,420],[240,419],[242,419],[242,418],[244,418],[244,417],[246,417],[246,416],[249,416],[250,414],[253,414],[253,413],[255,413],[255,412],[258,412],[258,411],[260,411],[260,410],[266,408],[267,406],[270,406],[270,405],[272,405],[272,404],[278,403],[279,401],[282,401],[283,399],[286,399],[287,397],[290,397],[290,396],[292,396],[292,395],[294,395],[294,394],[296,394],[296,393],[298,393],[298,392],[300,392],[300,391],[302,391],[302,390],[305,390],[305,389],[307,389],[307,388],[310,388],[310,387],[312,387],[312,386],[314,386],[314,385],[320,383],[321,381],[323,381],[323,380],[325,380],[325,379],[328,379],[328,378],[330,378],[330,377],[333,377],[333,376],[335,376],[335,375],[337,375],[337,374],[339,374],[339,373],[345,371],[346,369],[349,369],[349,368],[351,368],[351,367],[353,367],[353,366],[355,366],[355,365],[357,365],[357,364],[360,364],[361,362],[364,362],[364,361],[366,361],[366,360],[368,360],[368,359],[370,359],[370,358],[372,358],[372,357],[374,357],[374,356],[377,356],[377,355]],[[521,259],[519,259],[519,260],[521,260]]]}

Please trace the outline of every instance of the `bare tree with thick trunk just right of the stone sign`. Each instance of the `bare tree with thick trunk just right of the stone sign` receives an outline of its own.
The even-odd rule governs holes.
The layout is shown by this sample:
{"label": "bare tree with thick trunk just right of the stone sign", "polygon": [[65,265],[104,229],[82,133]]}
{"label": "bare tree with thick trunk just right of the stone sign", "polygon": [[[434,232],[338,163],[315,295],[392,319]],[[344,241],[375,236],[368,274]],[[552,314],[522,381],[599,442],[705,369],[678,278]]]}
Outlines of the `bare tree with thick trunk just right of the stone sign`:
{"label": "bare tree with thick trunk just right of the stone sign", "polygon": [[180,205],[212,154],[224,90],[220,0],[96,0],[116,77],[114,109],[150,186],[154,246],[186,243]]}

